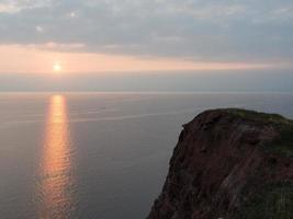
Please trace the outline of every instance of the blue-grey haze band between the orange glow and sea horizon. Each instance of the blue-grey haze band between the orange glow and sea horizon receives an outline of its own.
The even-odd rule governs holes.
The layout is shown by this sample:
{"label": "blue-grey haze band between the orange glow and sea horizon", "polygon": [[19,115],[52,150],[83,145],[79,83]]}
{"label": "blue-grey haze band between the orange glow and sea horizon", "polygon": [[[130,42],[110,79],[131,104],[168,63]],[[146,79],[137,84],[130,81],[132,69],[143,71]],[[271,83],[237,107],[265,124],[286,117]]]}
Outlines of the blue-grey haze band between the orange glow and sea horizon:
{"label": "blue-grey haze band between the orange glow and sea horizon", "polygon": [[0,74],[0,91],[293,92],[291,70]]}

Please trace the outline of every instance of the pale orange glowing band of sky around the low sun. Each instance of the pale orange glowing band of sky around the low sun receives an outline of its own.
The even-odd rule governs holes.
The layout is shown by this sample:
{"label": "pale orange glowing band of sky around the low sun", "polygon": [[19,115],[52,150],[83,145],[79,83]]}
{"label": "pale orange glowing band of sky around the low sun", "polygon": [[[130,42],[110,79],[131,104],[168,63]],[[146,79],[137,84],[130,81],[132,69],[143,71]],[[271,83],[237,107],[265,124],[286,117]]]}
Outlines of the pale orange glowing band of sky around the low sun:
{"label": "pale orange glowing band of sky around the low sun", "polygon": [[[53,49],[53,48],[54,49]],[[61,47],[63,53],[57,51]],[[71,45],[0,45],[1,72],[50,72],[80,73],[91,72],[101,73],[129,72],[129,71],[170,71],[170,70],[248,70],[248,69],[269,69],[269,68],[292,68],[292,64],[286,62],[214,62],[214,61],[192,61],[189,59],[176,58],[139,58],[126,55],[109,55],[94,53],[69,53],[70,48],[79,47]],[[20,54],[22,56],[20,56]],[[56,69],[56,70],[55,70]],[[59,69],[59,70],[58,70]]]}

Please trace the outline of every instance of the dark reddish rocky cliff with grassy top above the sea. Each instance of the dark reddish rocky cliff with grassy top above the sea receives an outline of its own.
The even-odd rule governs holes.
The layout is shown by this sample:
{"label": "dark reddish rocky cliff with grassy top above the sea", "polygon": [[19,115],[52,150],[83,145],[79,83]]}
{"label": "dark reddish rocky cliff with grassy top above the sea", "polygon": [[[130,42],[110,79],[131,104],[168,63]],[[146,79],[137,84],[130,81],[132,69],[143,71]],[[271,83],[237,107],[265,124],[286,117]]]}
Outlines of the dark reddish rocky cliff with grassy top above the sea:
{"label": "dark reddish rocky cliff with grassy top above the sea", "polygon": [[293,124],[206,111],[183,126],[148,219],[293,218]]}

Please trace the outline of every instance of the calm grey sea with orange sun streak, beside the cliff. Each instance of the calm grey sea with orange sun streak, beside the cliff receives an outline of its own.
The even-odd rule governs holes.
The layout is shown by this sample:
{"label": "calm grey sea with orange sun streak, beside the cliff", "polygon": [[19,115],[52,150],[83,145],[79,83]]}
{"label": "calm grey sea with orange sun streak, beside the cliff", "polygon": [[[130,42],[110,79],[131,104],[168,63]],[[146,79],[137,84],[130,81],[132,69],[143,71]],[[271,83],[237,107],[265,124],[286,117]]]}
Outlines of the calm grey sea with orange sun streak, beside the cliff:
{"label": "calm grey sea with orange sun streak, beside the cliff", "polygon": [[0,218],[145,218],[182,124],[218,107],[293,118],[293,94],[0,93]]}

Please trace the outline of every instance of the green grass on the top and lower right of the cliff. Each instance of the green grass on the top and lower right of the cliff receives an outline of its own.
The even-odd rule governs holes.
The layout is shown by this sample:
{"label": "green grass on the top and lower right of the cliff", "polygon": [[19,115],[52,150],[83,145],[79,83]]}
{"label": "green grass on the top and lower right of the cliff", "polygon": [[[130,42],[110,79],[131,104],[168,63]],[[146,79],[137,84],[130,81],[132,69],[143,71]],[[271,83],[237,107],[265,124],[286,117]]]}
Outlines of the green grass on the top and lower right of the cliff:
{"label": "green grass on the top and lower right of the cliff", "polygon": [[[293,122],[278,114],[259,113],[238,108],[221,110],[260,127],[273,127],[278,137],[260,147],[266,153],[293,157]],[[272,166],[273,168],[273,166]],[[273,170],[272,170],[273,171]],[[263,182],[256,171],[253,178],[241,191],[235,219],[291,219],[293,218],[293,182]]]}

